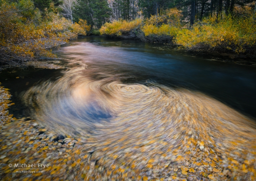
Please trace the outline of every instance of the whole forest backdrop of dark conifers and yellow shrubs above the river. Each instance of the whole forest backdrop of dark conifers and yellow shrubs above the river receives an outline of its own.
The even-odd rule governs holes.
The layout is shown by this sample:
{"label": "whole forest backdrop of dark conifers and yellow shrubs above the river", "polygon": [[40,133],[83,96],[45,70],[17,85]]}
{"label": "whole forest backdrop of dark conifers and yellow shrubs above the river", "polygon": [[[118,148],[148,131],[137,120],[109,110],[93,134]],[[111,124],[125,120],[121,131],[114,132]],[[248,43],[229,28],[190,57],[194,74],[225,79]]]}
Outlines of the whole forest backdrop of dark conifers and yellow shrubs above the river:
{"label": "whole forest backdrop of dark conifers and yellow shrubs above the river", "polygon": [[253,0],[0,0],[0,63],[54,57],[79,35],[256,57]]}

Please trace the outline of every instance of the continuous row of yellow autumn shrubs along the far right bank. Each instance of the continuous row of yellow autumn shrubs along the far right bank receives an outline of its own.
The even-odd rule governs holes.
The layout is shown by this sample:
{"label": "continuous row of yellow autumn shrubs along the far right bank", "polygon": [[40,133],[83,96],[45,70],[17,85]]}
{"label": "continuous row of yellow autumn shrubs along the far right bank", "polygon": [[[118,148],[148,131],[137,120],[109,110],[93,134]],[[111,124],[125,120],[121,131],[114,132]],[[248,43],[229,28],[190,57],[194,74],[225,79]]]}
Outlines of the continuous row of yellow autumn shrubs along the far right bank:
{"label": "continuous row of yellow autumn shrubs along the far right bank", "polygon": [[[190,26],[181,22],[181,11],[174,8],[161,15],[154,15],[136,24],[135,21],[106,23],[101,34],[124,38],[130,29],[136,29],[136,37],[145,42],[170,42],[193,51],[233,53],[242,57],[256,57],[256,16],[249,7],[241,11],[243,16],[231,14],[211,15]],[[136,27],[121,31],[120,27],[136,24]],[[127,26],[129,27],[129,26]]]}

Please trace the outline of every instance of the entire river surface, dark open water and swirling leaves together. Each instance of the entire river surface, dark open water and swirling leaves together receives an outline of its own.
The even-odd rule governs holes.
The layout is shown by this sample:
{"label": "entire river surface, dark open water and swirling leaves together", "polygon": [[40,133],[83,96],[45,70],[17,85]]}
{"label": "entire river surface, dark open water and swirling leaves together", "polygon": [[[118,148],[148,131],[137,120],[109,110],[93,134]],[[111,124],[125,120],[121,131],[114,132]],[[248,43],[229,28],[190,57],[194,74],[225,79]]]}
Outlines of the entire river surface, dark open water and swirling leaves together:
{"label": "entire river surface, dark open water and swirling leaves together", "polygon": [[149,169],[172,163],[200,170],[202,161],[207,170],[210,157],[223,170],[256,158],[255,67],[106,37],[72,40],[55,53],[67,69],[1,73],[16,103],[10,113],[81,138],[79,149],[104,158],[107,169],[115,163],[141,170],[148,161]]}

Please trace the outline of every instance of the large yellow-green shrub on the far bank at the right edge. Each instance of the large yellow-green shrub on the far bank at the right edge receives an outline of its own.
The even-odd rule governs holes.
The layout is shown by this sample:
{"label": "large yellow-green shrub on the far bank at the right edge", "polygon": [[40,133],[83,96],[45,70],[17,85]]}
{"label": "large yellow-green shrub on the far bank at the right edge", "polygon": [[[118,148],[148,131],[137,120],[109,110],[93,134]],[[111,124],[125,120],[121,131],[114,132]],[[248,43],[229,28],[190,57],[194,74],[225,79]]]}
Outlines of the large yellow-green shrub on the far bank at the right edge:
{"label": "large yellow-green shrub on the far bank at the right edge", "polygon": [[191,29],[179,31],[174,42],[188,50],[214,50],[255,57],[256,22],[253,16],[209,17]]}

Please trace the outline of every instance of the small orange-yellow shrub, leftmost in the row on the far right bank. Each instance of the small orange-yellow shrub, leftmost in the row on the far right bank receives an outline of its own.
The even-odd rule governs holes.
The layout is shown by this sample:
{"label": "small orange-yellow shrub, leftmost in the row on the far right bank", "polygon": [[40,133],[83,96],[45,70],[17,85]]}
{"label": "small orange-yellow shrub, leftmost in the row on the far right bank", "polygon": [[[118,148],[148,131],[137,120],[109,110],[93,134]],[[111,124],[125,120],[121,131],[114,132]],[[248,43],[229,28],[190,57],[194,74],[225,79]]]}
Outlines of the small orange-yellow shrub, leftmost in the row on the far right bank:
{"label": "small orange-yellow shrub, leftmost in the row on the far right bank", "polygon": [[141,19],[135,19],[131,22],[119,20],[113,23],[105,23],[99,31],[101,34],[111,37],[136,38],[136,31],[140,28],[141,24]]}

